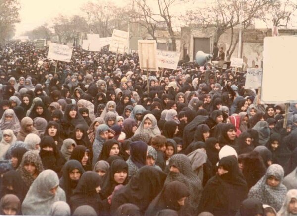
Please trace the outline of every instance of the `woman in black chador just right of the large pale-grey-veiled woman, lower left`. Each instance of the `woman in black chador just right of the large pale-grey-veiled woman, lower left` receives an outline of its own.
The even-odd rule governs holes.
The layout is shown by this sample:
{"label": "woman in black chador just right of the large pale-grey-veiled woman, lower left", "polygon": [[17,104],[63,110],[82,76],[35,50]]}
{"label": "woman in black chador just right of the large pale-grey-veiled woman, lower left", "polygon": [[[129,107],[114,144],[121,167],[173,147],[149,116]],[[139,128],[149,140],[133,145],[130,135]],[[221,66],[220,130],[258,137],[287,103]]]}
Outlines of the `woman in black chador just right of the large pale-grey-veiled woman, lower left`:
{"label": "woman in black chador just right of the large pale-grey-veiled woman, lower left", "polygon": [[85,173],[81,163],[77,160],[69,160],[63,166],[63,175],[60,178],[60,187],[65,191],[66,200],[69,202],[79,179]]}

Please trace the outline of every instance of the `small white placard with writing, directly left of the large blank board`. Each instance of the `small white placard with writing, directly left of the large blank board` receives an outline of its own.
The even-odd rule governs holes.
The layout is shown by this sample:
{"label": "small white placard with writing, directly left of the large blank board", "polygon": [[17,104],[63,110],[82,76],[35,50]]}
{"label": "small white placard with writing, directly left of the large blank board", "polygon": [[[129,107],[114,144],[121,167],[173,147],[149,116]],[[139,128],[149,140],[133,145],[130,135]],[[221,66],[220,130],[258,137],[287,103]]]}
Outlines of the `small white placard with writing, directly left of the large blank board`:
{"label": "small white placard with writing, directly left of the large blank board", "polygon": [[262,83],[262,72],[261,68],[248,68],[245,89],[258,89]]}

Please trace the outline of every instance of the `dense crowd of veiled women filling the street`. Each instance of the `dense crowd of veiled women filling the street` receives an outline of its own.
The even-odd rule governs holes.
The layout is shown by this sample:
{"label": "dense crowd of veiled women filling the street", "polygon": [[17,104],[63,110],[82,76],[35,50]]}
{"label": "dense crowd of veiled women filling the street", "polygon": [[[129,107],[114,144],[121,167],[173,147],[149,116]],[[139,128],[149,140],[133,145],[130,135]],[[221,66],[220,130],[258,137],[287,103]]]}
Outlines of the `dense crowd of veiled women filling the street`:
{"label": "dense crowd of veiled women filling the street", "polygon": [[231,68],[47,54],[0,47],[1,215],[297,215],[297,104],[283,127]]}

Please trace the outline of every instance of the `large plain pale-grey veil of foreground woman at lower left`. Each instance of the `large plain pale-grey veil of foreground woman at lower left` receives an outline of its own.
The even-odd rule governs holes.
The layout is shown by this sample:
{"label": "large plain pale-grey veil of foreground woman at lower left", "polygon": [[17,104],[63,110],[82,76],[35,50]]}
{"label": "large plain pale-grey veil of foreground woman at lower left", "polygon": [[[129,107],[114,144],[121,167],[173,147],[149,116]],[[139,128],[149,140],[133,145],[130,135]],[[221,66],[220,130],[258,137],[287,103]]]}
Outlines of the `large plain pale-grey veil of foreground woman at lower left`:
{"label": "large plain pale-grey veil of foreground woman at lower left", "polygon": [[[57,187],[56,193],[49,190]],[[50,208],[57,201],[66,201],[65,192],[59,187],[58,175],[52,170],[41,172],[32,183],[22,204],[24,215],[49,215]]]}

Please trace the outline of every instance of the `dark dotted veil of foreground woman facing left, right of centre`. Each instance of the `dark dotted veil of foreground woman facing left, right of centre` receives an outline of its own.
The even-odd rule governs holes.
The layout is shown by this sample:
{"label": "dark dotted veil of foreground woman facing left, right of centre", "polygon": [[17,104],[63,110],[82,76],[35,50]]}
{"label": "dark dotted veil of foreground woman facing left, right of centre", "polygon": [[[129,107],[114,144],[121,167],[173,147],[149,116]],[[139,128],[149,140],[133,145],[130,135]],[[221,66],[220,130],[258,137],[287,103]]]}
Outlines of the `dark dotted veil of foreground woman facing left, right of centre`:
{"label": "dark dotted veil of foreground woman facing left, right of centre", "polygon": [[165,185],[172,181],[186,184],[190,191],[190,205],[194,210],[197,209],[202,193],[202,182],[193,172],[190,159],[186,155],[175,154],[169,160],[169,167],[171,166],[178,168],[179,173],[170,172]]}

